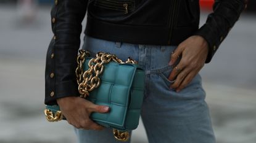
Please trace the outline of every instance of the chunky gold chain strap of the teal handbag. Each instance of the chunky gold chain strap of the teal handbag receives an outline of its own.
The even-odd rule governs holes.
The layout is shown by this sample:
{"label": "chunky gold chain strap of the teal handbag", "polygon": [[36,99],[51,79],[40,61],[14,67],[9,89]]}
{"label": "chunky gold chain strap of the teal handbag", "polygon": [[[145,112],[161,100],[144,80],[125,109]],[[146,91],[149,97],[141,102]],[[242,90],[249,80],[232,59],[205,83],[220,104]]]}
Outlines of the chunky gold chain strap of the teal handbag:
{"label": "chunky gold chain strap of the teal handbag", "polygon": [[[88,66],[89,69],[83,72],[83,64],[85,63],[86,56],[89,55],[89,52],[85,50],[79,50],[76,62],[78,64],[75,74],[76,82],[78,83],[78,91],[82,98],[89,96],[89,91],[93,91],[95,88],[99,87],[101,84],[101,79],[99,75],[104,71],[104,64],[109,63],[110,61],[115,61],[117,63],[124,63],[122,60],[118,59],[116,55],[110,53],[99,52],[96,55],[96,58],[89,60]],[[125,63],[137,64],[136,61],[132,60],[130,57]],[[44,115],[49,122],[57,122],[62,120],[63,115],[61,111],[57,111],[56,114],[53,114],[51,110],[45,109]],[[115,139],[118,141],[128,141],[130,135],[127,131],[119,131],[113,129]]]}

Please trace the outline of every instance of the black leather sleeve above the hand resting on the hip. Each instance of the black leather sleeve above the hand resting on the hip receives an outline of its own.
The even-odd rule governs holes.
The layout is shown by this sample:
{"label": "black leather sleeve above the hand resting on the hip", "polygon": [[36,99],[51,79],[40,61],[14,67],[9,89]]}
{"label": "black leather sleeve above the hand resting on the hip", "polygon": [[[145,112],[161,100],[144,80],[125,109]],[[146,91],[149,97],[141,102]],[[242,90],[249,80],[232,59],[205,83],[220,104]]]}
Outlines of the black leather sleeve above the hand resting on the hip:
{"label": "black leather sleeve above the hand resting on the hip", "polygon": [[215,0],[213,13],[208,16],[206,23],[196,33],[204,37],[209,44],[209,53],[205,63],[212,60],[221,42],[245,7],[245,0]]}

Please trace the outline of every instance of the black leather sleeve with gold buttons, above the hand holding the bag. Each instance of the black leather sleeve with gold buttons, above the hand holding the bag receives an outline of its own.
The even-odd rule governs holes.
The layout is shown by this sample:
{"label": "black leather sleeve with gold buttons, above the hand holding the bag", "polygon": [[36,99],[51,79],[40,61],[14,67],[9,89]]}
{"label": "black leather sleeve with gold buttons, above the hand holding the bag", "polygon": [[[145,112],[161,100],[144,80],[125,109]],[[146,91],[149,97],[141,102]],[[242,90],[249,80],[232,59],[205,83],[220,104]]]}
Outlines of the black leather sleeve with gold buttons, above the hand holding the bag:
{"label": "black leather sleeve with gold buttons, above the hand holding the bag", "polygon": [[54,0],[51,10],[54,36],[46,55],[44,103],[47,105],[56,104],[57,98],[79,95],[76,56],[87,4],[87,0]]}

